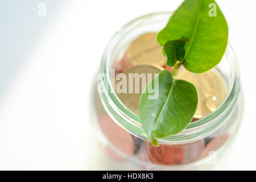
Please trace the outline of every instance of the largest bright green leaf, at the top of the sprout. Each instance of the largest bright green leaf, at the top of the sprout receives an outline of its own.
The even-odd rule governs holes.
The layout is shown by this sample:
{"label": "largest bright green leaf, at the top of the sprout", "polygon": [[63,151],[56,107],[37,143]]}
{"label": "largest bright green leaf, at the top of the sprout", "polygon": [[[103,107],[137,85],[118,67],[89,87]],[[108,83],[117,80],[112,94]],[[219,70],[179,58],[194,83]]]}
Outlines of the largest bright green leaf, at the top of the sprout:
{"label": "largest bright green leaf, at the top of the sprout", "polygon": [[185,0],[156,40],[163,46],[183,36],[189,39],[184,56],[188,71],[203,73],[220,63],[228,44],[228,24],[214,0]]}

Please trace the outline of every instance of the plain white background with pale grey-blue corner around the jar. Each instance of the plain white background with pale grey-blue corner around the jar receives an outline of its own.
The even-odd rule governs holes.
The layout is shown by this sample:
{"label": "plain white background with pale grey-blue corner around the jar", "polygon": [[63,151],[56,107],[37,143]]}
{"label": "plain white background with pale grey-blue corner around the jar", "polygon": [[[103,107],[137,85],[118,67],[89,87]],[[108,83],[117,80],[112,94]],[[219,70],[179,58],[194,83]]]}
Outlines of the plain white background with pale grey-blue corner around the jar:
{"label": "plain white background with pale grey-blue corner around the jar", "polygon": [[[38,4],[46,3],[46,17]],[[100,169],[89,94],[108,40],[181,0],[0,1],[0,169]],[[256,169],[256,1],[218,0],[241,68],[245,109],[222,169]]]}

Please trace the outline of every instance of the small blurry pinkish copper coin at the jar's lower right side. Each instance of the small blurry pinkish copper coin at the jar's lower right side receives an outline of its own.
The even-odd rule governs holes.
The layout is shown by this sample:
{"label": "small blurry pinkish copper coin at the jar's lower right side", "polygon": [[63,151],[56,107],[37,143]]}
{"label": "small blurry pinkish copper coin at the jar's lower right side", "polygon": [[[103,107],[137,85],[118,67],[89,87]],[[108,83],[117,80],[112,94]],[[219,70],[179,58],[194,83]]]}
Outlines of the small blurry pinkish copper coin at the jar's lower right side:
{"label": "small blurry pinkish copper coin at the jar's lower right side", "polygon": [[229,135],[223,134],[210,140],[210,142],[205,147],[203,154],[201,155],[201,159],[208,156],[210,151],[217,151],[221,146],[223,146],[226,143],[228,139]]}

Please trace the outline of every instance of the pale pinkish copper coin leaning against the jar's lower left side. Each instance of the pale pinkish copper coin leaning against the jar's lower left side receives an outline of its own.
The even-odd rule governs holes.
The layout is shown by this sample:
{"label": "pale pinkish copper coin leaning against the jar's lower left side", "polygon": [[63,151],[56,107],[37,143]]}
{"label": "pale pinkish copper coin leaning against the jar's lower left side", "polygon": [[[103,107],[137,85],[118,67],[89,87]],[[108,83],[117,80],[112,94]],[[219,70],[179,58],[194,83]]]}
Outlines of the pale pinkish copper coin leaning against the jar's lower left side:
{"label": "pale pinkish copper coin leaning against the jar's lower left side", "polygon": [[131,135],[113,121],[105,113],[98,118],[99,125],[109,142],[126,156],[133,155],[135,151],[134,140]]}

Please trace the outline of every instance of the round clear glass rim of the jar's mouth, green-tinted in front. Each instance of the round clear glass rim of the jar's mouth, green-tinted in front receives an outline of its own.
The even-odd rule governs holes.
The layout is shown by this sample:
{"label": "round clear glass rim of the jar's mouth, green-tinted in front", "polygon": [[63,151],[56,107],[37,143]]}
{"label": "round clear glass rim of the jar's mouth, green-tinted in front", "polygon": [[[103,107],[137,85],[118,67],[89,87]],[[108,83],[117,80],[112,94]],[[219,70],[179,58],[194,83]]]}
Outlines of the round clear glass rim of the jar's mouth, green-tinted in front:
{"label": "round clear glass rim of the jar's mouth, green-tinted in front", "polygon": [[[122,102],[119,100],[117,94],[114,92],[114,88],[111,84],[110,78],[110,68],[113,63],[113,53],[117,53],[120,49],[115,48],[115,46],[119,43],[122,36],[126,36],[127,32],[132,32],[136,30],[137,26],[144,22],[149,21],[151,19],[158,20],[159,18],[164,18],[166,21],[170,19],[172,13],[154,13],[141,16],[137,19],[132,20],[131,22],[125,24],[110,40],[108,46],[105,49],[104,55],[102,56],[100,73],[106,74],[106,81],[100,83],[101,92],[100,98],[102,104],[105,109],[108,111],[108,114],[112,119],[123,129],[137,135],[140,138],[146,138],[146,134],[144,134],[141,119],[140,117],[129,110]],[[163,27],[159,27],[163,28]],[[206,117],[199,119],[198,121],[191,122],[187,126],[186,129],[181,131],[179,134],[170,135],[166,138],[159,139],[160,143],[166,142],[177,142],[177,141],[191,141],[197,140],[199,137],[203,137],[205,135],[209,135],[213,133],[221,124],[228,118],[230,111],[232,110],[234,104],[236,104],[237,97],[240,93],[240,72],[238,68],[237,57],[233,51],[232,46],[228,43],[226,48],[226,52],[221,62],[225,61],[225,70],[227,70],[229,79],[229,88],[227,88],[227,96],[222,104],[214,110],[212,113],[207,115]],[[216,68],[221,67],[221,65],[217,65]],[[107,92],[109,90],[111,92]]]}

